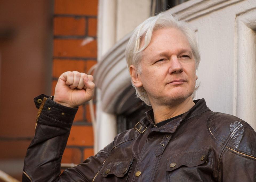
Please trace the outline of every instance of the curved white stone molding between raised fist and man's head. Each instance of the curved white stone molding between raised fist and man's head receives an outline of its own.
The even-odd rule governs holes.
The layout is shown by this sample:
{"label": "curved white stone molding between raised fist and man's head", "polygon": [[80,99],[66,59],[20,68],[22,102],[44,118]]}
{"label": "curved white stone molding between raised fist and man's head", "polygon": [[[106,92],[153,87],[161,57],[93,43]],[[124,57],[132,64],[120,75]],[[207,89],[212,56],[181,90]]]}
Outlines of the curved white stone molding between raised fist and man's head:
{"label": "curved white stone molding between raised fist and man's head", "polygon": [[125,60],[125,48],[130,34],[121,39],[99,62],[94,72],[95,84],[101,89],[102,110],[115,113],[116,102],[131,85]]}

